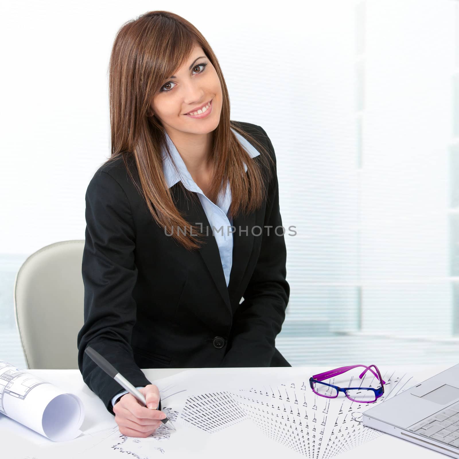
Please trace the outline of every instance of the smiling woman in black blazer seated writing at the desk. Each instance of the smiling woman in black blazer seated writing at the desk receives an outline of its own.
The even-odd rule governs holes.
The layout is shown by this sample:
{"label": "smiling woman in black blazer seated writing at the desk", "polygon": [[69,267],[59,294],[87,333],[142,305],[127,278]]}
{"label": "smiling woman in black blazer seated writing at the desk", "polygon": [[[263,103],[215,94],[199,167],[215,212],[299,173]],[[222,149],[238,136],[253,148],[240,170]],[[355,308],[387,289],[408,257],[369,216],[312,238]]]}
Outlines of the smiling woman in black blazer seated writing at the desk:
{"label": "smiling woman in black blazer seated writing at the desk", "polygon": [[218,60],[193,25],[168,11],[127,22],[109,73],[112,155],[86,192],[78,365],[120,432],[146,437],[162,413],[140,368],[291,366],[275,348],[285,231],[272,143],[229,120]]}

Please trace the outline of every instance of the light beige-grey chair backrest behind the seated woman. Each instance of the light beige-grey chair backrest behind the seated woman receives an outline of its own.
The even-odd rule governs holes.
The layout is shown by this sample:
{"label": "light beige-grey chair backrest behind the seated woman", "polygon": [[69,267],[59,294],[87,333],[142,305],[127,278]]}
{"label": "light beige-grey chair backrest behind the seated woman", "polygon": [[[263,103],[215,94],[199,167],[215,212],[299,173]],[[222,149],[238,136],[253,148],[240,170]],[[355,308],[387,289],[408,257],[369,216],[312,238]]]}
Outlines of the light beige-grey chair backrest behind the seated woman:
{"label": "light beige-grey chair backrest behind the seated woman", "polygon": [[14,313],[30,369],[78,369],[84,323],[84,240],[56,242],[30,255],[14,281]]}

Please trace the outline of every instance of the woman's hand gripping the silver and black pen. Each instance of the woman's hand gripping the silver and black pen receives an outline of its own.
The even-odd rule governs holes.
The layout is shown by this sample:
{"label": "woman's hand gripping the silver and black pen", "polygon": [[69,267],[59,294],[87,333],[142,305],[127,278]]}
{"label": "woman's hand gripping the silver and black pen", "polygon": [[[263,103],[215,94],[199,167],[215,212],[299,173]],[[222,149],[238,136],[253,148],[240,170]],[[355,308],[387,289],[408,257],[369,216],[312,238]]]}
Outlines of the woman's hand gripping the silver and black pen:
{"label": "woman's hand gripping the silver and black pen", "polygon": [[149,384],[141,387],[139,391],[145,396],[146,407],[128,393],[115,403],[113,413],[115,413],[115,421],[121,434],[128,437],[146,438],[162,425],[160,419],[164,419],[166,414],[157,410],[159,404],[157,386]]}

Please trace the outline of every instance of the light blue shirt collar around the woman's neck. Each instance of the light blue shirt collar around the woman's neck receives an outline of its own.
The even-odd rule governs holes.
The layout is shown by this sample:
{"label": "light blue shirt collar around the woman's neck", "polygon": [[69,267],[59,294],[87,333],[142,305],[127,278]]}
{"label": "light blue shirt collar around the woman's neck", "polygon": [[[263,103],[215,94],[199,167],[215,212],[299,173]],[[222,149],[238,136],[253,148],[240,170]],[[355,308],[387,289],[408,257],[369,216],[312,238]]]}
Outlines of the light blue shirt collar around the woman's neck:
{"label": "light blue shirt collar around the woman's neck", "polygon": [[[237,140],[241,143],[241,145],[244,147],[244,149],[247,151],[247,153],[250,155],[251,158],[254,158],[260,154],[260,152],[250,143],[248,142],[244,137],[242,137],[241,134],[236,132],[233,128],[230,128],[235,136],[237,137]],[[189,187],[192,187],[194,184],[193,179],[191,178],[190,173],[188,172],[188,169],[185,166],[185,162],[183,162],[182,157],[179,154],[179,151],[174,145],[174,142],[171,140],[167,132],[164,132],[166,134],[166,142],[169,147],[169,151],[171,152],[171,156],[174,159],[174,163],[179,169],[179,174],[174,168],[174,165],[171,163],[170,158],[165,151],[165,149],[162,149],[162,170],[164,172],[164,177],[166,179],[166,182],[168,184],[168,187],[170,188],[171,186],[175,185],[177,182],[182,180],[185,185],[189,185]],[[244,162],[244,171],[247,172],[247,165]],[[194,187],[193,187],[194,188]]]}

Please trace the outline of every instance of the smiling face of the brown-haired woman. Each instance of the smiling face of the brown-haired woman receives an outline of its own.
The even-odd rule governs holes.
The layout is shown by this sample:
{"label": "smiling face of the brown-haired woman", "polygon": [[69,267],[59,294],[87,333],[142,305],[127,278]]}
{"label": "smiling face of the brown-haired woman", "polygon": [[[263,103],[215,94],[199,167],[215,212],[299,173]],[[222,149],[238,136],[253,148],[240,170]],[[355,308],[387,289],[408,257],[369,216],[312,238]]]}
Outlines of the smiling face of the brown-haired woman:
{"label": "smiling face of the brown-haired woman", "polygon": [[[187,115],[196,107],[211,101],[204,118]],[[222,88],[217,72],[201,46],[196,45],[185,65],[153,96],[151,115],[161,120],[164,128],[192,134],[207,134],[217,128],[222,110]],[[169,129],[168,129],[169,128]]]}

